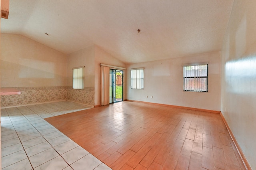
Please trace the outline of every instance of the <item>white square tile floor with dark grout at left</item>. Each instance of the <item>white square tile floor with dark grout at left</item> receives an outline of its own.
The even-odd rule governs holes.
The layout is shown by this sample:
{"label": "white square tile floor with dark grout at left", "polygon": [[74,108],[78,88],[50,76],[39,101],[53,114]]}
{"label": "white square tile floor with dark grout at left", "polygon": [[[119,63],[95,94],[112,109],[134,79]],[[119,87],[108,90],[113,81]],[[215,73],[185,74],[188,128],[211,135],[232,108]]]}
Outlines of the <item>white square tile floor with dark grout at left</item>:
{"label": "white square tile floor with dark grout at left", "polygon": [[44,120],[88,108],[61,101],[1,109],[2,170],[110,170]]}

